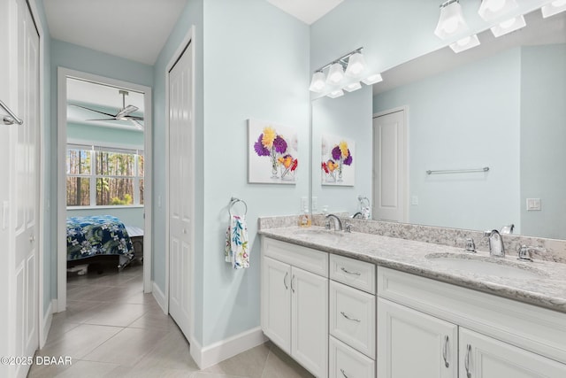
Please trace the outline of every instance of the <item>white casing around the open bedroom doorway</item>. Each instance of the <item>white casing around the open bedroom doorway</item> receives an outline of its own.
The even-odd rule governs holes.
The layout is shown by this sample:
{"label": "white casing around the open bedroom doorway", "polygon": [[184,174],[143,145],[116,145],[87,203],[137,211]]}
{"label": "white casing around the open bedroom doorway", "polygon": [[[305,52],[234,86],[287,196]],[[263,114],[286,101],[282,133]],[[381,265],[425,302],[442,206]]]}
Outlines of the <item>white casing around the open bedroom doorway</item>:
{"label": "white casing around the open bedroom doorway", "polygon": [[111,85],[126,89],[132,89],[144,94],[144,150],[146,160],[145,163],[145,232],[143,236],[143,291],[151,292],[151,228],[152,212],[151,212],[151,182],[153,180],[152,173],[152,150],[151,150],[151,130],[152,130],[152,113],[151,88],[145,85],[135,84],[127,81],[119,81],[92,73],[83,73],[71,70],[65,67],[57,67],[57,312],[65,311],[66,308],[66,186],[65,186],[65,153],[66,153],[66,79],[67,77],[93,81],[103,85]]}

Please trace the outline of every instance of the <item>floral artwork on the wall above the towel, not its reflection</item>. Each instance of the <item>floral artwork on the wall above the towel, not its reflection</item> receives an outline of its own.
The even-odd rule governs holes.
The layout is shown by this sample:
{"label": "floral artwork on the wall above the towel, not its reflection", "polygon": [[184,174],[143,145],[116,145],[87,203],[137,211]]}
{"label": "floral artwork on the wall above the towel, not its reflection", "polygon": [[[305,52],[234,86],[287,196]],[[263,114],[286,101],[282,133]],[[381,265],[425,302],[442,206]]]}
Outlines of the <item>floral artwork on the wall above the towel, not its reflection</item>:
{"label": "floral artwork on the wall above the towel, not its reflection", "polygon": [[249,183],[294,184],[298,160],[294,127],[248,120]]}

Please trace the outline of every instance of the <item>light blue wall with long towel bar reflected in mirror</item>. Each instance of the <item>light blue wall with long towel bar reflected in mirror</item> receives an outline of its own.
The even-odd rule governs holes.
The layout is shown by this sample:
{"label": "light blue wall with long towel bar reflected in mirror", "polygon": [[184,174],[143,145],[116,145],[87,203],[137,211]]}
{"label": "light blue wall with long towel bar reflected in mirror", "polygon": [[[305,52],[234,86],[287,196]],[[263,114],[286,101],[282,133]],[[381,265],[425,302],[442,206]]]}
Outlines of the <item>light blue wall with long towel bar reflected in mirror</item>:
{"label": "light blue wall with long towel bar reflected in mirror", "polygon": [[[409,222],[519,228],[520,68],[513,49],[374,97],[374,112],[409,107]],[[425,174],[482,166],[489,173]]]}

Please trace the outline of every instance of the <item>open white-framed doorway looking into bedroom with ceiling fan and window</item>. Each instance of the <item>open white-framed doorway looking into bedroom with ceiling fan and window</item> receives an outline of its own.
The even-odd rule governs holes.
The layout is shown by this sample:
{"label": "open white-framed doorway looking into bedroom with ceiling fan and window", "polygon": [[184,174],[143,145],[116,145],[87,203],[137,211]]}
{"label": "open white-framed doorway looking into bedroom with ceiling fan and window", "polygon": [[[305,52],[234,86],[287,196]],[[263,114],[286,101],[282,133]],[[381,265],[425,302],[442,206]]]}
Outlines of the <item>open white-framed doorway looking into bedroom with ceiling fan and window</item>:
{"label": "open white-framed doorway looking into bedroom with ceiling fan and window", "polygon": [[[131,233],[134,227],[136,235],[142,230],[142,245],[138,243],[138,256],[134,251],[134,257],[143,261],[143,291],[151,291],[151,89],[63,67],[58,68],[57,74],[55,311],[62,312],[67,303],[67,254],[81,258],[80,255],[98,254],[102,249],[108,251],[106,243],[101,242],[99,247],[90,240],[79,239],[73,243],[85,243],[85,249],[67,250],[66,224],[71,215],[119,215],[115,218],[122,226],[111,223],[117,230],[111,237],[118,241],[111,248],[116,253],[126,253],[111,258],[120,267],[131,262],[134,251],[134,245],[121,240],[123,228],[127,226]],[[137,143],[136,133],[142,133]],[[85,263],[89,259],[92,258],[84,259]],[[80,260],[73,260],[71,265],[79,265],[75,273],[85,273],[80,270],[84,267]]]}

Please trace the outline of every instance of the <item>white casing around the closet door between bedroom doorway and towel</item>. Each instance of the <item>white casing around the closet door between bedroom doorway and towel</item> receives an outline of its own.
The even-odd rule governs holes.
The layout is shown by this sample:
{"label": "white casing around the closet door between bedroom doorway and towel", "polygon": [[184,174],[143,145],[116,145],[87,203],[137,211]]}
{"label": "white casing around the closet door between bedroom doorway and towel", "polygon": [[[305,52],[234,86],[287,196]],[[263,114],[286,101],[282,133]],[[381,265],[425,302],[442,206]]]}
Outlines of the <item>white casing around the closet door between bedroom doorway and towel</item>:
{"label": "white casing around the closet door between bedroom doorway and towel", "polygon": [[[191,107],[193,109],[193,128],[192,128],[192,137],[191,141],[193,145],[191,146],[190,150],[193,153],[192,161],[195,161],[195,128],[196,128],[196,117],[195,117],[195,56],[196,56],[196,48],[195,48],[195,26],[192,26],[188,29],[187,34],[183,38],[182,42],[180,42],[177,50],[173,53],[171,59],[165,66],[165,298],[167,299],[166,302],[166,312],[169,313],[169,73],[172,70],[172,67],[175,66],[175,63],[179,60],[183,52],[187,49],[188,44],[192,44],[193,48],[193,59],[191,61],[191,82],[192,82],[192,104]],[[191,214],[191,227],[189,230],[189,235],[191,236],[191,240],[195,240],[195,197],[194,197],[195,190],[193,190],[193,204],[191,208],[193,209],[193,213]],[[190,300],[190,313],[189,313],[189,328],[190,328],[190,335],[187,337],[189,342],[194,343],[196,340],[195,337],[195,244],[193,243],[193,250],[191,252],[190,257],[190,284],[189,284],[189,300]]]}

